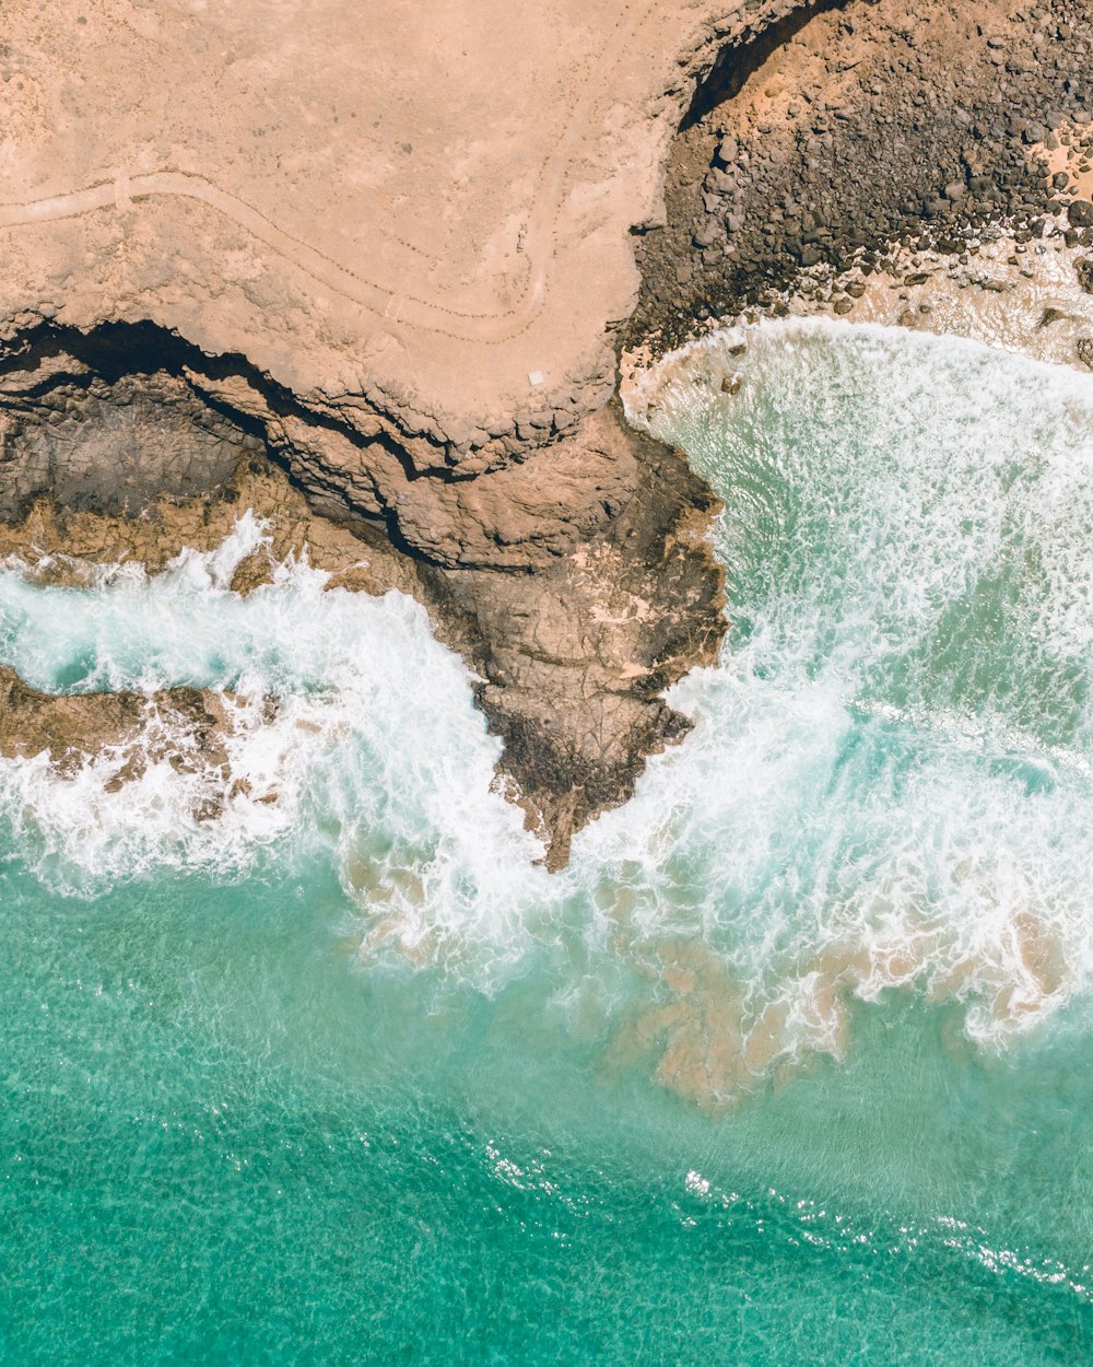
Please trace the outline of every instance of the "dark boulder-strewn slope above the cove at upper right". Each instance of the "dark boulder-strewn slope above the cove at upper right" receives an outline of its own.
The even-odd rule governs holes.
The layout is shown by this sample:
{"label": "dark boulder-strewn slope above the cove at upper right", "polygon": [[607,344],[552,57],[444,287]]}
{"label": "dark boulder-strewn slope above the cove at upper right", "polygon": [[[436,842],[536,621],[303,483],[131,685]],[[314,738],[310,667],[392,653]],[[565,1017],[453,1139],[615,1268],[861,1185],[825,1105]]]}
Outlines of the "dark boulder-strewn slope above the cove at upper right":
{"label": "dark boulder-strewn slope above the cove at upper right", "polygon": [[894,243],[962,254],[1001,221],[1029,242],[1068,204],[1068,241],[1093,242],[1090,63],[1074,0],[850,3],[727,44],[672,145],[667,224],[638,241],[623,346],[769,308],[820,265],[887,269]]}

